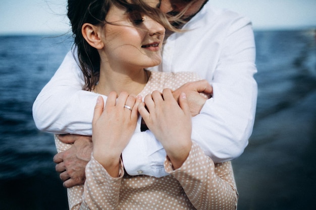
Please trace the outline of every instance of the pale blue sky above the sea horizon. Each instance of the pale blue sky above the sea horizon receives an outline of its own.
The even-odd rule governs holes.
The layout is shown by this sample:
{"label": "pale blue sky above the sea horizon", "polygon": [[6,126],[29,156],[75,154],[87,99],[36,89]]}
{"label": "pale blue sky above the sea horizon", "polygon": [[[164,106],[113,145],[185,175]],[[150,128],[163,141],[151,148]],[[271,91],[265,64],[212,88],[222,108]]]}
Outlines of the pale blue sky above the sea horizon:
{"label": "pale blue sky above the sea horizon", "polygon": [[[253,28],[316,28],[315,0],[209,0],[243,14]],[[69,31],[67,0],[0,1],[0,34],[60,34]]]}

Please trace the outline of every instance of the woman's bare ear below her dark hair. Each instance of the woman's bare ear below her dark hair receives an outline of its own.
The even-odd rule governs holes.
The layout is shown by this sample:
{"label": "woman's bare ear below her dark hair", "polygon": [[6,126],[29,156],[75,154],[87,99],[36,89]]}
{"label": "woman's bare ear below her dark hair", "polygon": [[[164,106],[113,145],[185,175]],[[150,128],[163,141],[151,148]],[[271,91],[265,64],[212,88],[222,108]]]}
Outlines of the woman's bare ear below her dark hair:
{"label": "woman's bare ear below her dark hair", "polygon": [[99,26],[90,23],[83,24],[81,28],[83,38],[94,48],[102,49],[104,44],[101,39],[101,30]]}

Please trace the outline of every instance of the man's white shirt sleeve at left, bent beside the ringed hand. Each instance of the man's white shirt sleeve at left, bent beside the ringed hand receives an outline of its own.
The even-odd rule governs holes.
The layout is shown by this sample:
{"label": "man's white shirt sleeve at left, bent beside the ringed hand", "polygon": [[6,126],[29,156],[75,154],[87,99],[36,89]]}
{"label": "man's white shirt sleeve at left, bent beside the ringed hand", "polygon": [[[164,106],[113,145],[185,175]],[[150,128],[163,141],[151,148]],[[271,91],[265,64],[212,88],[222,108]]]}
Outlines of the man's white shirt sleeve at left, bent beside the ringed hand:
{"label": "man's white shirt sleeve at left, bent beside the ringed hand", "polygon": [[[37,128],[51,133],[91,135],[98,94],[83,91],[83,85],[83,74],[72,52],[68,52],[34,101],[33,118]],[[103,98],[106,100],[106,96]]]}

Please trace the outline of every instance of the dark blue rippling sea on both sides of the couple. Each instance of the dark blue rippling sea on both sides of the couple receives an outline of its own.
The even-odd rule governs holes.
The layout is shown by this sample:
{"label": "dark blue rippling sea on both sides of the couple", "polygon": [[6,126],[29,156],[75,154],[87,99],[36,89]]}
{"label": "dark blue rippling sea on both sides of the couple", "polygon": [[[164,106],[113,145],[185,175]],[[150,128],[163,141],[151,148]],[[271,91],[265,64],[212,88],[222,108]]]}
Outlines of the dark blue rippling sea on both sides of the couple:
{"label": "dark blue rippling sea on both sides of the couple", "polygon": [[[316,196],[316,42],[313,30],[256,31],[257,114],[233,162],[238,209],[310,209]],[[67,209],[32,103],[71,47],[69,37],[0,36],[0,210]]]}

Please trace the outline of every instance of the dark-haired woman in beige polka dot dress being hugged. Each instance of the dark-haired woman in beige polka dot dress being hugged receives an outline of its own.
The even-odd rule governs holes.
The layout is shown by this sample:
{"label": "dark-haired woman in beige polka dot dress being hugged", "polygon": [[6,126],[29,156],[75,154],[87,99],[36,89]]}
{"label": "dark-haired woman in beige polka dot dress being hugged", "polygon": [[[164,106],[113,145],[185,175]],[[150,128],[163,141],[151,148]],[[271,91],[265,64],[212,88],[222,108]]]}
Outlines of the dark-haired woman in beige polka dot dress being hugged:
{"label": "dark-haired woman in beige polka dot dress being hugged", "polygon": [[[145,3],[68,1],[85,89],[108,96],[105,106],[98,97],[86,181],[84,187],[69,189],[70,209],[235,209],[238,195],[231,163],[214,164],[191,141],[186,97],[181,95],[179,106],[165,89],[198,77],[145,69],[161,62],[164,27],[175,30],[155,9],[158,1]],[[135,128],[140,130],[138,111],[166,151],[168,176],[124,173],[121,154]],[[59,151],[69,147],[57,138],[56,143]]]}

